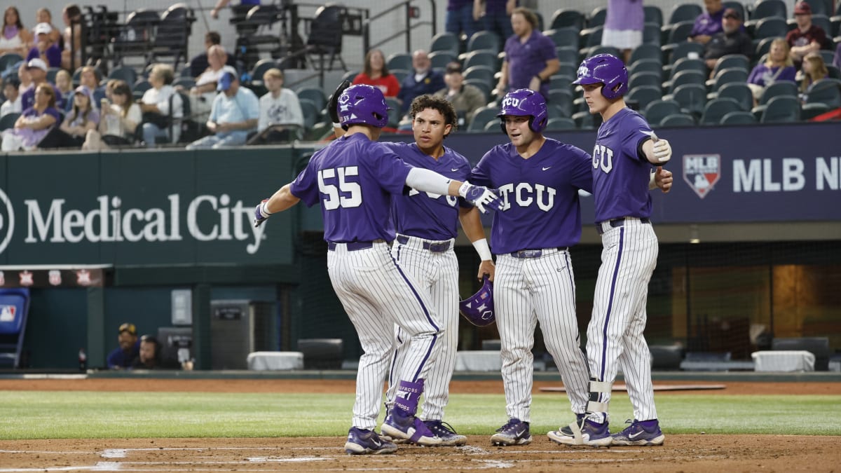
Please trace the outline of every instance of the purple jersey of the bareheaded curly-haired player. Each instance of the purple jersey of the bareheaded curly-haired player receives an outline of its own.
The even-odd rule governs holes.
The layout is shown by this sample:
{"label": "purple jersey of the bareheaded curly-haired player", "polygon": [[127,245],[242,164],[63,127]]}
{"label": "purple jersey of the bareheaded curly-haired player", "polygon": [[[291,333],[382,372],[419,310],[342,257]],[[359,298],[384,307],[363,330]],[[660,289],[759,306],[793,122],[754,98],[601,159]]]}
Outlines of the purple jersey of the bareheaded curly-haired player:
{"label": "purple jersey of the bareheaded curly-haired player", "polygon": [[[457,181],[467,180],[470,163],[466,157],[445,147],[437,160],[415,143],[383,143],[403,161],[414,167],[424,167]],[[458,208],[469,207],[464,199],[451,195],[431,194],[410,189],[408,194],[394,195],[391,215],[397,232],[427,240],[448,240],[458,236]]]}

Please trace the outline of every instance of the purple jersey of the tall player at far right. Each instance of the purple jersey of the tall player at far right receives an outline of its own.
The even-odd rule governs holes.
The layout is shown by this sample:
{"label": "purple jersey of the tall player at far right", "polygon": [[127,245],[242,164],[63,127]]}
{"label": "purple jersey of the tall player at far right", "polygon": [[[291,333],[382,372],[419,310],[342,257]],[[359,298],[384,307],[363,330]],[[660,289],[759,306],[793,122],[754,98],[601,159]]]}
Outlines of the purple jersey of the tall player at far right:
{"label": "purple jersey of the tall player at far right", "polygon": [[653,165],[637,152],[651,133],[632,109],[621,109],[601,124],[593,150],[595,221],[651,216],[648,181]]}

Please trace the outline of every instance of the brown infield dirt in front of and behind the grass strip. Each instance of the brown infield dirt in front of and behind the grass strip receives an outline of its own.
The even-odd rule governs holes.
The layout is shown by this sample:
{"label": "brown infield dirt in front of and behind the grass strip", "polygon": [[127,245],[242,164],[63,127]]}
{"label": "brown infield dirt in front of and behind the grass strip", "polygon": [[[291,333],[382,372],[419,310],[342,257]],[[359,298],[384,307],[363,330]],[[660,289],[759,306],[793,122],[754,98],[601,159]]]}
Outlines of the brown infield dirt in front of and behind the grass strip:
{"label": "brown infield dirt in front of and behind the grass strip", "polygon": [[[659,382],[657,384],[669,384]],[[703,383],[697,383],[703,384]],[[711,383],[721,384],[721,383]],[[841,383],[726,382],[734,394],[841,394]],[[536,382],[535,392],[544,385]],[[0,390],[135,391],[124,380],[0,380]],[[353,392],[352,380],[144,380],[147,391]],[[452,392],[501,393],[501,381],[453,381]],[[686,391],[691,392],[691,391]],[[677,394],[680,396],[680,394]],[[674,396],[669,394],[669,396]],[[526,446],[500,448],[470,436],[459,448],[401,445],[396,454],[344,454],[344,438],[145,438],[0,441],[5,471],[833,471],[838,437],[668,435],[662,447],[569,448],[532,433]]]}

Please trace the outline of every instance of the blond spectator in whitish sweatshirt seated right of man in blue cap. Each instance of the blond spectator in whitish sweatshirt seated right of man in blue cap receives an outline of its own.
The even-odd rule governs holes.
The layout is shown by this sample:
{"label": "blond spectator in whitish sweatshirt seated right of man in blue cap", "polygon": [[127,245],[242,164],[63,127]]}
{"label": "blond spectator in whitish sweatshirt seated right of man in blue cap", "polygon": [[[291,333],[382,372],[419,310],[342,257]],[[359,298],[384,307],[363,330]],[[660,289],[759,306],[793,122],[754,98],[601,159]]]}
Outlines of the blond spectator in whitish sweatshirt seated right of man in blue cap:
{"label": "blond spectator in whitish sweatshirt seated right of man in blue cap", "polygon": [[283,88],[283,71],[272,67],[263,74],[268,93],[260,98],[260,118],[257,136],[249,145],[288,142],[299,138],[304,128],[304,112],[294,91]]}

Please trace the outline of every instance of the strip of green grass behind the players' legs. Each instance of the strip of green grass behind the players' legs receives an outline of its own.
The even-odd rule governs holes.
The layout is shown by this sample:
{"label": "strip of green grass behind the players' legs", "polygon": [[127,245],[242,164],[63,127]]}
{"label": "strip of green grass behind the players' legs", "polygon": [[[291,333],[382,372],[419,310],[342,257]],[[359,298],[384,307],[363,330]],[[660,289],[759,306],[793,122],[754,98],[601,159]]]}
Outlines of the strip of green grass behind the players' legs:
{"label": "strip of green grass behind the players' legs", "polygon": [[[140,381],[142,382],[142,381]],[[841,396],[658,395],[668,433],[841,435]],[[0,391],[0,438],[186,438],[343,436],[351,394]],[[632,417],[611,402],[613,430]],[[532,401],[532,431],[572,421],[563,394]],[[445,419],[459,433],[490,435],[507,420],[505,397],[452,395]]]}

